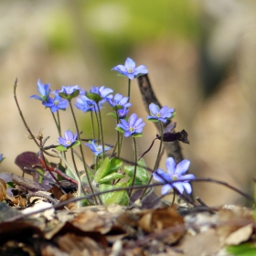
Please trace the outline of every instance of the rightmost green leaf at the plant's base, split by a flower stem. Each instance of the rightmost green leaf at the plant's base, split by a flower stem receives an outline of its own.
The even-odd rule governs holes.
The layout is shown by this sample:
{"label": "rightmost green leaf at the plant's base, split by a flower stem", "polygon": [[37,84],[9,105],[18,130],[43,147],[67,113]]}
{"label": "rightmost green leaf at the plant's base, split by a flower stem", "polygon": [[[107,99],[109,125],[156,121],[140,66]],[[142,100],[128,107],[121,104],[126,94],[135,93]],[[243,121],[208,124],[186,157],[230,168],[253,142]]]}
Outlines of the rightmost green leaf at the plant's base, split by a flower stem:
{"label": "rightmost green leaf at the plant's base, split by a flower stem", "polygon": [[[149,174],[148,171],[145,169],[146,165],[144,163],[144,159],[140,159],[137,163],[137,170],[136,170],[136,177],[135,177],[135,184],[134,185],[145,185],[149,181]],[[123,171],[125,174],[131,177],[128,181],[129,186],[132,184],[133,175],[134,175],[134,165],[125,165]]]}

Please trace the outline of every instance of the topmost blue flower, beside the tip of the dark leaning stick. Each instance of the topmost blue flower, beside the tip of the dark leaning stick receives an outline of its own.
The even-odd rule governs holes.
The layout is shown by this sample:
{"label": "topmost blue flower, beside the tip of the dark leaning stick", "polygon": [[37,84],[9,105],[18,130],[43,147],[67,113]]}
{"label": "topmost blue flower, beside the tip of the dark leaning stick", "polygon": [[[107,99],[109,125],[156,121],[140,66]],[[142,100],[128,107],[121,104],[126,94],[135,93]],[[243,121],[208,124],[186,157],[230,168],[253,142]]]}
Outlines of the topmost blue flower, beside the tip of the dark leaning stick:
{"label": "topmost blue flower, beside the tip of the dark leaning stick", "polygon": [[148,70],[147,67],[144,65],[140,65],[139,67],[135,67],[135,62],[133,59],[127,58],[125,60],[124,66],[117,65],[112,68],[112,70],[116,70],[121,73],[123,76],[128,77],[128,79],[133,80],[140,75],[147,74]]}

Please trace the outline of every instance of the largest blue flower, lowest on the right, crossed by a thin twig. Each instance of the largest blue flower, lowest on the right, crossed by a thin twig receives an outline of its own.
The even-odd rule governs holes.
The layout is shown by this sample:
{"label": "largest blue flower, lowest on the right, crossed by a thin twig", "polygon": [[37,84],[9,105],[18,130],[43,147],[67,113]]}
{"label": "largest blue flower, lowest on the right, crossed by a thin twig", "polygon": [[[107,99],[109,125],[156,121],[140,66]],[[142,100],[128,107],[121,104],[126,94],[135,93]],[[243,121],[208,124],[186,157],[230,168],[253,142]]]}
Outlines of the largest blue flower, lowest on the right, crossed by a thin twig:
{"label": "largest blue flower, lowest on the right, crossed by a thin twig", "polygon": [[[173,187],[175,187],[180,194],[183,193],[184,189],[187,191],[187,194],[192,192],[192,187],[187,179],[195,179],[196,177],[194,175],[183,176],[183,174],[187,172],[189,165],[190,162],[187,159],[182,160],[176,165],[175,160],[172,157],[168,157],[165,163],[168,174],[166,174],[165,171],[160,168],[153,173],[156,181],[165,183],[165,185],[162,187],[162,195],[167,194],[169,189]],[[175,182],[172,185],[166,184],[166,182],[173,180],[180,180],[180,182]]]}

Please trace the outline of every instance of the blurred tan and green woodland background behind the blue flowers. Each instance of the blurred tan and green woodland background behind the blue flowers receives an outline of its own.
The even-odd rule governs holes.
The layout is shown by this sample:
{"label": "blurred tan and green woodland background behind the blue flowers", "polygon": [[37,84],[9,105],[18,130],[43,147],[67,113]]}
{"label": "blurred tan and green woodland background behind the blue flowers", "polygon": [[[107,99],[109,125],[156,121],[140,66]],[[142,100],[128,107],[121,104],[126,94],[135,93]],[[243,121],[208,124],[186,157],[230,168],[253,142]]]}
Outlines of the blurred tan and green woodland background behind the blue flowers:
{"label": "blurred tan and green woodland background behind the blue flowers", "polygon": [[[149,69],[156,97],[176,109],[176,131],[185,129],[190,144],[182,144],[191,161],[190,173],[228,182],[253,193],[256,169],[256,2],[254,0],[161,1],[36,1],[0,2],[0,153],[1,172],[21,174],[16,155],[37,152],[13,99],[17,98],[32,132],[43,128],[56,144],[58,133],[49,110],[28,97],[37,94],[37,79],[62,85],[112,88],[123,95],[127,80],[112,67],[127,57]],[[132,80],[132,112],[146,111]],[[102,114],[110,112],[107,106]],[[79,112],[84,136],[91,137],[90,115]],[[69,109],[60,112],[63,131],[75,131]],[[112,117],[103,121],[105,141],[115,142]],[[142,154],[155,138],[146,122],[139,138]],[[132,140],[125,140],[123,157],[133,159]],[[158,144],[144,157],[153,167]],[[86,149],[91,161],[91,152]],[[161,162],[165,169],[165,157]],[[226,187],[194,184],[194,195],[209,206],[248,202]]]}

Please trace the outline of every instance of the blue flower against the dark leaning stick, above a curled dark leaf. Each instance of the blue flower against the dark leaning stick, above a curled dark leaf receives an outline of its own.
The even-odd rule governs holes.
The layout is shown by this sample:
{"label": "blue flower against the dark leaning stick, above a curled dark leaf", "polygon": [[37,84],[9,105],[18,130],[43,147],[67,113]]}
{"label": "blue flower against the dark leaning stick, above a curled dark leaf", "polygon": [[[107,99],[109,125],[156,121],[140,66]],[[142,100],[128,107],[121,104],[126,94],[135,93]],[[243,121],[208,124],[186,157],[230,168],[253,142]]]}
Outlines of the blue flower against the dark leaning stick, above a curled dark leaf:
{"label": "blue flower against the dark leaning stick, above a curled dark leaf", "polygon": [[149,105],[150,115],[147,116],[148,120],[152,121],[161,121],[166,122],[167,120],[171,119],[173,113],[175,112],[174,109],[169,109],[167,106],[160,109],[155,103],[151,103]]}

